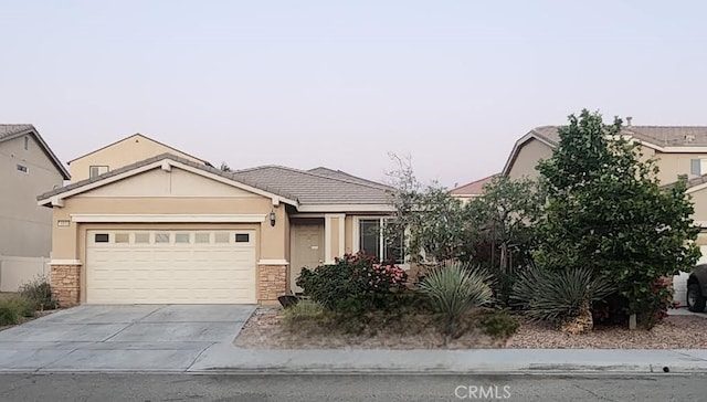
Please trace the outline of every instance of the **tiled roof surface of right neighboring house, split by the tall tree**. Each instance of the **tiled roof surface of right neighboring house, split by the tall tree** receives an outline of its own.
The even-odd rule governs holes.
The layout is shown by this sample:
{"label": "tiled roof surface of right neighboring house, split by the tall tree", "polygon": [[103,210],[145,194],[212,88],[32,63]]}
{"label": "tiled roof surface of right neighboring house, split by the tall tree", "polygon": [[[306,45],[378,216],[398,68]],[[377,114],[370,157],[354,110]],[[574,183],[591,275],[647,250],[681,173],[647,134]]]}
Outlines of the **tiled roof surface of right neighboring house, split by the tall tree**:
{"label": "tiled roof surface of right neighboring house, split by the tall tree", "polygon": [[[530,133],[553,146],[560,141],[558,126],[536,127]],[[659,147],[707,146],[707,126],[624,126],[621,133]]]}

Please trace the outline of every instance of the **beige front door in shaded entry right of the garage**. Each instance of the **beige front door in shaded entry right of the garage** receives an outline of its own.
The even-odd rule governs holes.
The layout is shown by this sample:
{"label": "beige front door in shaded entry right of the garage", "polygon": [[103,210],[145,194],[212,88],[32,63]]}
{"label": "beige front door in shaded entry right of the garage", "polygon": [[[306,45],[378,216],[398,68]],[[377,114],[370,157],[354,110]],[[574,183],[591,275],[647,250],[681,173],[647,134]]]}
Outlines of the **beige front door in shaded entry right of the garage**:
{"label": "beige front door in shaded entry right of the garage", "polygon": [[314,269],[324,263],[324,218],[294,219],[291,228],[289,284],[293,294],[299,294],[302,288],[295,283],[302,267]]}

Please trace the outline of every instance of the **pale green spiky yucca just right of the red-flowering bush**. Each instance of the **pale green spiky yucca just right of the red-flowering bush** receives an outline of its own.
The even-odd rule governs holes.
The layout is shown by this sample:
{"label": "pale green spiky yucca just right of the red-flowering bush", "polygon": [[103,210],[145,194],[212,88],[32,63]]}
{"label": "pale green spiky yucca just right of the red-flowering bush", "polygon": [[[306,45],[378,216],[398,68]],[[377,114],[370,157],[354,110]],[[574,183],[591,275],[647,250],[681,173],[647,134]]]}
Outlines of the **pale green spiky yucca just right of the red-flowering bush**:
{"label": "pale green spiky yucca just right of the red-flowering bush", "polygon": [[490,302],[489,275],[460,262],[444,263],[431,269],[418,285],[430,297],[442,317],[442,331],[447,338],[462,335],[462,318],[472,308]]}

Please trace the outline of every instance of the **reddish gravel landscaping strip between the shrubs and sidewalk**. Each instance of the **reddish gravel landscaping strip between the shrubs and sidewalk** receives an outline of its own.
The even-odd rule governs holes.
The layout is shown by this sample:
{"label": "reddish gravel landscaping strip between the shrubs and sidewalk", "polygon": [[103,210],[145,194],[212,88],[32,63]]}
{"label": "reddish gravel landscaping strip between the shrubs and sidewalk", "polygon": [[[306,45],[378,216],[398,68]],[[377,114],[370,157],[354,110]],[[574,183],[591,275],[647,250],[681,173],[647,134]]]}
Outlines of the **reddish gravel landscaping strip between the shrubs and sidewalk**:
{"label": "reddish gravel landscaping strip between the shrubs and sidewalk", "polygon": [[252,349],[703,349],[707,345],[707,319],[671,316],[652,330],[598,327],[582,335],[568,335],[535,322],[523,321],[518,332],[507,341],[472,331],[444,346],[433,322],[416,331],[392,327],[374,336],[333,335],[317,331],[292,331],[282,325],[283,311],[260,308],[245,324],[234,341]]}

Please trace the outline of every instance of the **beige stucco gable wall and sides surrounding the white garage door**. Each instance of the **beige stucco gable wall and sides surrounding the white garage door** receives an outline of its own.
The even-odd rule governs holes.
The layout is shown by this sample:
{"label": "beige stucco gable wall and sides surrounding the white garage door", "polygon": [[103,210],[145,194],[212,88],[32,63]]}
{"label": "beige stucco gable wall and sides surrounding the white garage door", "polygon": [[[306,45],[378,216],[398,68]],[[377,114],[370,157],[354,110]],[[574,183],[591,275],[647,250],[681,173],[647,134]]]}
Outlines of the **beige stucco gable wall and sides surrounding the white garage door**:
{"label": "beige stucco gable wall and sides surrounding the white garage door", "polygon": [[[184,180],[184,174],[191,176],[190,180]],[[120,189],[120,193],[116,193],[114,186]],[[75,222],[70,226],[56,224],[59,220],[71,220],[72,214],[267,215],[271,210],[273,205],[270,198],[181,171],[178,168],[172,168],[170,172],[156,169],[67,198],[64,200],[63,208],[54,208],[52,257],[84,261],[85,255],[81,248],[81,242],[85,236],[85,233],[82,233],[83,225]],[[265,222],[257,224],[261,228],[258,258],[287,260],[286,211],[284,205],[274,208],[274,211],[275,226],[271,226],[267,218]]]}

